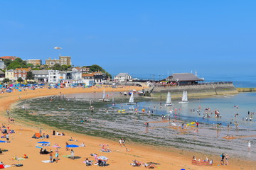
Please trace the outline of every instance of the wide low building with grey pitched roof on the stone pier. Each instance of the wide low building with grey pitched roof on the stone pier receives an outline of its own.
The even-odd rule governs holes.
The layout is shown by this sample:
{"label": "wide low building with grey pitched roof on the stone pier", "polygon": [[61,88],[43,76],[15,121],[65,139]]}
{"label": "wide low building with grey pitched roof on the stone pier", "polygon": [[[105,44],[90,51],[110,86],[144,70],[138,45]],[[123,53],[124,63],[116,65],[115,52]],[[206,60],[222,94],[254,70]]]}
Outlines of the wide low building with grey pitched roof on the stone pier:
{"label": "wide low building with grey pitched roof on the stone pier", "polygon": [[192,74],[192,73],[174,73],[162,81],[174,82],[181,86],[181,85],[198,84],[198,81],[203,81],[203,80],[204,79],[200,79],[195,74]]}

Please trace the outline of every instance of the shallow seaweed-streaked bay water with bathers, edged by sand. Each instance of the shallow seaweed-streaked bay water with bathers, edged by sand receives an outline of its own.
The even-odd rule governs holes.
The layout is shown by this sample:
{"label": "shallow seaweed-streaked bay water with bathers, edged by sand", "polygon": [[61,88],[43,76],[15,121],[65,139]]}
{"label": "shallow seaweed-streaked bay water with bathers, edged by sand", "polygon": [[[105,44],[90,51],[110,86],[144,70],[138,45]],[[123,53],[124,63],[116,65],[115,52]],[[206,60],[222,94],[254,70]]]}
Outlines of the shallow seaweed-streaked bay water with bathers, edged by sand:
{"label": "shallow seaweed-streaked bay water with bathers, edged by sand", "polygon": [[[224,152],[235,157],[256,160],[255,118],[252,121],[242,120],[247,116],[248,111],[256,113],[256,93],[200,99],[188,98],[189,103],[179,104],[178,101],[173,101],[172,107],[160,106],[160,103],[164,105],[164,100],[151,100],[139,96],[135,97],[137,106],[127,106],[124,103],[129,101],[129,96],[121,97],[118,93],[108,94],[108,96],[111,101],[112,97],[115,98],[116,106],[112,106],[112,102],[98,101],[98,98],[102,97],[101,93],[73,94],[66,95],[64,98],[53,96],[53,101],[50,101],[50,97],[24,100],[18,103],[12,114],[23,120],[32,120],[63,130],[107,137],[112,140],[124,137],[128,141],[149,145],[164,145],[217,155]],[[95,107],[93,112],[89,109],[90,101]],[[22,110],[22,106],[25,106],[26,110]],[[201,106],[200,115],[197,113],[199,106]],[[58,107],[65,110],[60,111]],[[138,115],[129,111],[131,107],[138,108]],[[153,113],[142,113],[142,108],[146,112],[149,110]],[[210,118],[203,118],[204,108],[218,109],[222,117],[215,118],[214,115],[210,115]],[[122,109],[126,111],[118,112]],[[171,110],[173,113],[170,113]],[[236,113],[238,113],[237,117],[235,117]],[[168,118],[166,121],[161,121],[161,115],[166,115],[168,118],[170,116],[171,121],[169,122]],[[81,118],[88,118],[91,122],[81,123]],[[199,128],[189,125],[187,130],[181,130],[181,123],[186,125],[196,120],[200,123]],[[176,128],[171,126],[172,121],[176,122]],[[233,124],[227,128],[226,125],[230,121]],[[239,124],[238,128],[235,128],[235,121]],[[149,122],[149,128],[145,127],[145,122]],[[216,128],[217,123],[221,123],[222,128]],[[237,138],[223,139],[226,135]],[[252,143],[250,150],[247,148],[249,140]]]}

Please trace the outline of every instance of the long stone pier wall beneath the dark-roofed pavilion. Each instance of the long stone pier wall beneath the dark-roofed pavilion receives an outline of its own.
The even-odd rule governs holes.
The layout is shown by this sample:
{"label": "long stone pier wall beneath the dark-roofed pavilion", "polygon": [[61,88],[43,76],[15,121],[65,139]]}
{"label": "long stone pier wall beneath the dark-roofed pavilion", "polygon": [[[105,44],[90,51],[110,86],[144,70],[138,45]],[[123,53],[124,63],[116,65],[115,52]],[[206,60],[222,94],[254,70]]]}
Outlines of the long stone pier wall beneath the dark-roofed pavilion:
{"label": "long stone pier wall beneath the dark-roofed pavilion", "polygon": [[188,91],[188,97],[215,96],[225,94],[238,94],[233,84],[203,84],[193,86],[156,86],[151,89],[150,96],[157,98],[166,98],[168,91],[172,98],[180,98],[183,91]]}

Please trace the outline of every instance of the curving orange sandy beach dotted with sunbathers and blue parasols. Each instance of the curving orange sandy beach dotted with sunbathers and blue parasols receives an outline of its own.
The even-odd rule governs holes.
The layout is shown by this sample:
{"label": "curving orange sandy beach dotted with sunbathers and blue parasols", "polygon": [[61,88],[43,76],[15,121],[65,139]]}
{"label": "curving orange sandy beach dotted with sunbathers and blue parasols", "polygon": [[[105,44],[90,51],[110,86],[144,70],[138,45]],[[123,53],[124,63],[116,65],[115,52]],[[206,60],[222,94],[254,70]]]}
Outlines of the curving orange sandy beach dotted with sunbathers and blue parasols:
{"label": "curving orange sandy beach dotted with sunbathers and blue parasols", "polygon": [[[112,89],[105,87],[105,91],[129,91],[131,89],[142,89],[142,87],[125,86],[123,88]],[[53,130],[58,131],[56,128],[47,125],[34,125],[26,123],[21,120],[15,120],[14,123],[8,121],[6,109],[11,109],[11,105],[17,101],[26,98],[36,98],[40,96],[53,96],[58,94],[79,94],[79,93],[93,93],[102,92],[103,88],[74,88],[74,89],[36,89],[27,91],[14,91],[10,94],[0,94],[0,111],[1,123],[11,130],[15,130],[14,134],[9,134],[10,143],[1,143],[1,149],[8,149],[8,152],[0,154],[0,161],[6,165],[23,164],[21,167],[11,166],[8,169],[145,169],[144,166],[133,167],[130,165],[132,160],[137,159],[139,162],[154,162],[157,163],[155,169],[256,169],[255,162],[239,160],[230,155],[229,164],[227,166],[220,165],[220,157],[211,157],[213,159],[213,166],[195,166],[191,164],[192,156],[196,158],[205,159],[208,155],[201,153],[194,153],[175,148],[153,147],[147,145],[139,145],[137,143],[125,144],[125,147],[119,146],[118,141],[106,140],[100,137],[91,137],[82,134],[77,134],[65,131],[65,136],[53,136]],[[11,113],[11,110],[10,110]],[[13,115],[12,115],[13,116]],[[14,115],[15,119],[15,115]],[[49,139],[33,139],[31,138],[35,132],[39,132],[42,128],[42,133],[49,134]],[[62,132],[62,130],[59,130]],[[77,141],[68,141],[70,137]],[[6,139],[1,139],[6,140]],[[150,140],[150,139],[149,139]],[[53,150],[53,158],[55,157],[55,147],[58,144],[59,161],[58,163],[43,163],[44,160],[49,160],[49,154],[39,154],[40,149],[36,148],[38,142],[50,142],[50,146],[44,147],[47,150]],[[73,148],[76,159],[63,157],[70,155],[70,150],[66,151],[65,142],[69,145],[80,145],[85,143],[85,147]],[[107,145],[105,148],[110,148],[112,152],[100,152],[102,148],[100,145]],[[127,148],[129,151],[127,151]],[[28,159],[11,160],[13,157],[21,158],[23,154],[28,155]],[[90,154],[97,154],[98,156],[108,157],[109,166],[100,167],[94,165],[95,159]],[[92,160],[92,166],[85,166],[85,159]]]}

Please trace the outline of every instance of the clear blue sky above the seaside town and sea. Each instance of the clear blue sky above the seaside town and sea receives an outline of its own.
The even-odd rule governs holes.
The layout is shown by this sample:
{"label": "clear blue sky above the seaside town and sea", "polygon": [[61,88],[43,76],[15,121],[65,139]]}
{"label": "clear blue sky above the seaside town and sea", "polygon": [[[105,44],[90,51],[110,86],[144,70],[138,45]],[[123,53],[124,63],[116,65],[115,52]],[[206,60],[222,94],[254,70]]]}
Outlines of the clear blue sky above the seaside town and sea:
{"label": "clear blue sky above the seaside town and sea", "polygon": [[256,1],[1,0],[0,56],[69,55],[110,74],[256,72]]}

